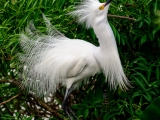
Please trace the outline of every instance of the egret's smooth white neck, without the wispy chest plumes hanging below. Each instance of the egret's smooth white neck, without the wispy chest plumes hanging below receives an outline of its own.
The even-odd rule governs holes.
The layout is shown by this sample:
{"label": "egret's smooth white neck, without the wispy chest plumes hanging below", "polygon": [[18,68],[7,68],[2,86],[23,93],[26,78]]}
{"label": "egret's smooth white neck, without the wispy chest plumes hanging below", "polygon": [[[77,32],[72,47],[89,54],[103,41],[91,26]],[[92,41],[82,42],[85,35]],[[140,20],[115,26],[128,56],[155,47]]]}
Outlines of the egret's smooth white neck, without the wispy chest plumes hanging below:
{"label": "egret's smooth white neck, without the wispy chest plumes hanging below", "polygon": [[100,44],[95,51],[95,57],[103,69],[113,70],[114,65],[122,69],[115,37],[108,21],[106,21],[101,21],[94,27],[94,32]]}

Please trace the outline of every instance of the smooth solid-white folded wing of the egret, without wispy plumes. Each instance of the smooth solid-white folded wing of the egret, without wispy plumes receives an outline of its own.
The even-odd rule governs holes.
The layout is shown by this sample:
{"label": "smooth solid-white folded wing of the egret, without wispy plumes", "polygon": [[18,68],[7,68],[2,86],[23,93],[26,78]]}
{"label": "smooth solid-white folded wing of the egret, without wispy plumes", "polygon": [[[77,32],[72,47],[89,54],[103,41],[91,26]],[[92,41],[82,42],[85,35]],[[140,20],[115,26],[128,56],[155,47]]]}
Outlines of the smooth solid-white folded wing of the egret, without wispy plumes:
{"label": "smooth solid-white folded wing of the egret, without wispy plumes", "polygon": [[[84,58],[93,55],[95,50],[95,46],[82,40],[63,40],[53,46],[41,53],[40,59],[36,62],[35,70],[48,76],[55,72],[54,77],[61,77],[61,79],[80,73],[86,65]],[[84,61],[84,63],[79,61]],[[75,66],[79,66],[79,69],[70,72],[70,69]]]}

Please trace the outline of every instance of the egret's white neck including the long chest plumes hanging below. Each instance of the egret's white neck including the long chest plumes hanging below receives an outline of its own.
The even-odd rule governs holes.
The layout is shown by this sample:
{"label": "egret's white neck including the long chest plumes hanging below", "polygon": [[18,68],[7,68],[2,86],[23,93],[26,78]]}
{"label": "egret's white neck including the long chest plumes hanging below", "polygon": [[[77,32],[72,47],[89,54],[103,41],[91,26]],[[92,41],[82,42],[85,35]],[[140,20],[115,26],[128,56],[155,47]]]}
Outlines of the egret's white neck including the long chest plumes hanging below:
{"label": "egret's white neck including the long chest plumes hanging below", "polygon": [[119,85],[125,88],[127,78],[123,72],[113,31],[109,23],[100,22],[94,28],[100,46],[95,50],[95,58],[111,88]]}

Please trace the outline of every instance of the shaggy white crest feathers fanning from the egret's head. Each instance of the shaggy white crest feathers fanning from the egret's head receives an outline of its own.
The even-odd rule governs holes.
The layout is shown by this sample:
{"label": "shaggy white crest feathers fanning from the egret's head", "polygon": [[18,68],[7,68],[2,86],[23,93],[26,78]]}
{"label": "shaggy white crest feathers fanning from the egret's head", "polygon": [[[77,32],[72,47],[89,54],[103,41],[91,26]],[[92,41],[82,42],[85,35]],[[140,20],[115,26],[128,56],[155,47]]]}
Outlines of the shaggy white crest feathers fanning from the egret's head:
{"label": "shaggy white crest feathers fanning from the egret's head", "polygon": [[101,17],[107,18],[108,7],[106,7],[102,13],[98,8],[101,5],[103,5],[103,3],[100,3],[98,0],[84,0],[84,2],[76,6],[76,10],[70,14],[72,16],[76,16],[78,18],[78,22],[85,24],[86,28],[93,28],[98,14],[104,14]]}

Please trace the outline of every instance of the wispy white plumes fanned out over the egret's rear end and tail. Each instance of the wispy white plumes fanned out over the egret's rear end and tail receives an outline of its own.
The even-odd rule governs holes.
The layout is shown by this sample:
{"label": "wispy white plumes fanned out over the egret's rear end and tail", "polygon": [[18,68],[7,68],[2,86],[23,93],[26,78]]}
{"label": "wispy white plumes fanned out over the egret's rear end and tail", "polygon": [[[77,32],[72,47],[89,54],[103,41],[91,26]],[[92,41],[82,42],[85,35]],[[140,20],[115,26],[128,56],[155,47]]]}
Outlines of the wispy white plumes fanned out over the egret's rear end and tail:
{"label": "wispy white plumes fanned out over the egret's rear end and tail", "polygon": [[[22,33],[19,39],[23,53],[19,54],[18,58],[24,65],[20,76],[24,79],[25,87],[35,91],[38,96],[55,92],[59,83],[63,83],[66,74],[66,71],[58,68],[64,65],[64,51],[61,51],[60,47],[67,45],[65,41],[68,38],[55,29],[44,15],[43,19],[47,35],[38,32],[31,21],[25,34]],[[62,57],[56,54],[56,51]]]}

